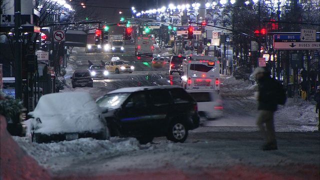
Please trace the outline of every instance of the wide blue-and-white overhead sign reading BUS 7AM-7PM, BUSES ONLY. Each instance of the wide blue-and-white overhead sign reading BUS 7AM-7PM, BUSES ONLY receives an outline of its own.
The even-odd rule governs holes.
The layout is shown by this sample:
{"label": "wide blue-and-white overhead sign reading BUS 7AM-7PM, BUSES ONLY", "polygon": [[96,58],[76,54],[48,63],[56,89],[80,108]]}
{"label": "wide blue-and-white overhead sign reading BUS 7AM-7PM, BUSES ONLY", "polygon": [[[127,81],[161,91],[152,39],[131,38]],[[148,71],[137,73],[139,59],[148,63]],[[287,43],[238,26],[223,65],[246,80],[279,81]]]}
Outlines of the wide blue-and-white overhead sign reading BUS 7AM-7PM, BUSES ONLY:
{"label": "wide blue-and-white overhead sign reading BUS 7AM-7PM, BUSES ONLY", "polygon": [[320,35],[316,34],[315,42],[301,42],[300,34],[274,34],[273,48],[285,50],[320,49]]}

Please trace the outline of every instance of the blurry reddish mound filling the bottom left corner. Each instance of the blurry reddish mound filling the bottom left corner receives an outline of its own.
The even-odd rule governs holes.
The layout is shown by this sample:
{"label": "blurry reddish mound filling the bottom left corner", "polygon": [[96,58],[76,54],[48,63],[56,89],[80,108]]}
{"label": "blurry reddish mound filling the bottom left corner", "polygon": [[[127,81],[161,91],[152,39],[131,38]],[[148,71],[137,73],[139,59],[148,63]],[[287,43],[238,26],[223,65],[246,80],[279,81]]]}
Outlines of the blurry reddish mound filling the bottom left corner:
{"label": "blurry reddish mound filling the bottom left corner", "polygon": [[1,179],[50,179],[46,169],[12,139],[6,130],[6,120],[0,116],[0,174]]}

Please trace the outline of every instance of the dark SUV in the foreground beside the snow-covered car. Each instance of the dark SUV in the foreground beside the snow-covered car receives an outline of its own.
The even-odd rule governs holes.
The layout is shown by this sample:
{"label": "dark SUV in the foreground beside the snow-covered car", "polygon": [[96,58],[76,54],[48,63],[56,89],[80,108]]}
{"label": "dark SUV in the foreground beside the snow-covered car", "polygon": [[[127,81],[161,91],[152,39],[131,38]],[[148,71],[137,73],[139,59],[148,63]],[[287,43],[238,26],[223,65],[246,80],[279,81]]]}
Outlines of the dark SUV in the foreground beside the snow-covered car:
{"label": "dark SUV in the foreground beside the snow-covered car", "polygon": [[140,143],[166,136],[184,142],[188,130],[199,126],[195,100],[181,87],[126,87],[98,98],[110,136],[133,136]]}

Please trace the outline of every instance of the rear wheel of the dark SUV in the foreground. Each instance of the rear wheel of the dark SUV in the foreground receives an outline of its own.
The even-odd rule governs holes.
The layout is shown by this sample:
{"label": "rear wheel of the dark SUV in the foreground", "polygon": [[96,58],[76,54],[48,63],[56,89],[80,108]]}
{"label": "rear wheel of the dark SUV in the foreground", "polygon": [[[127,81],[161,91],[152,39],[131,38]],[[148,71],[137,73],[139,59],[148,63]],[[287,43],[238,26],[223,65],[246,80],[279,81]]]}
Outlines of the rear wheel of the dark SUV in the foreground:
{"label": "rear wheel of the dark SUV in the foreground", "polygon": [[188,130],[184,123],[176,121],[171,123],[166,138],[173,142],[184,142],[188,136]]}

